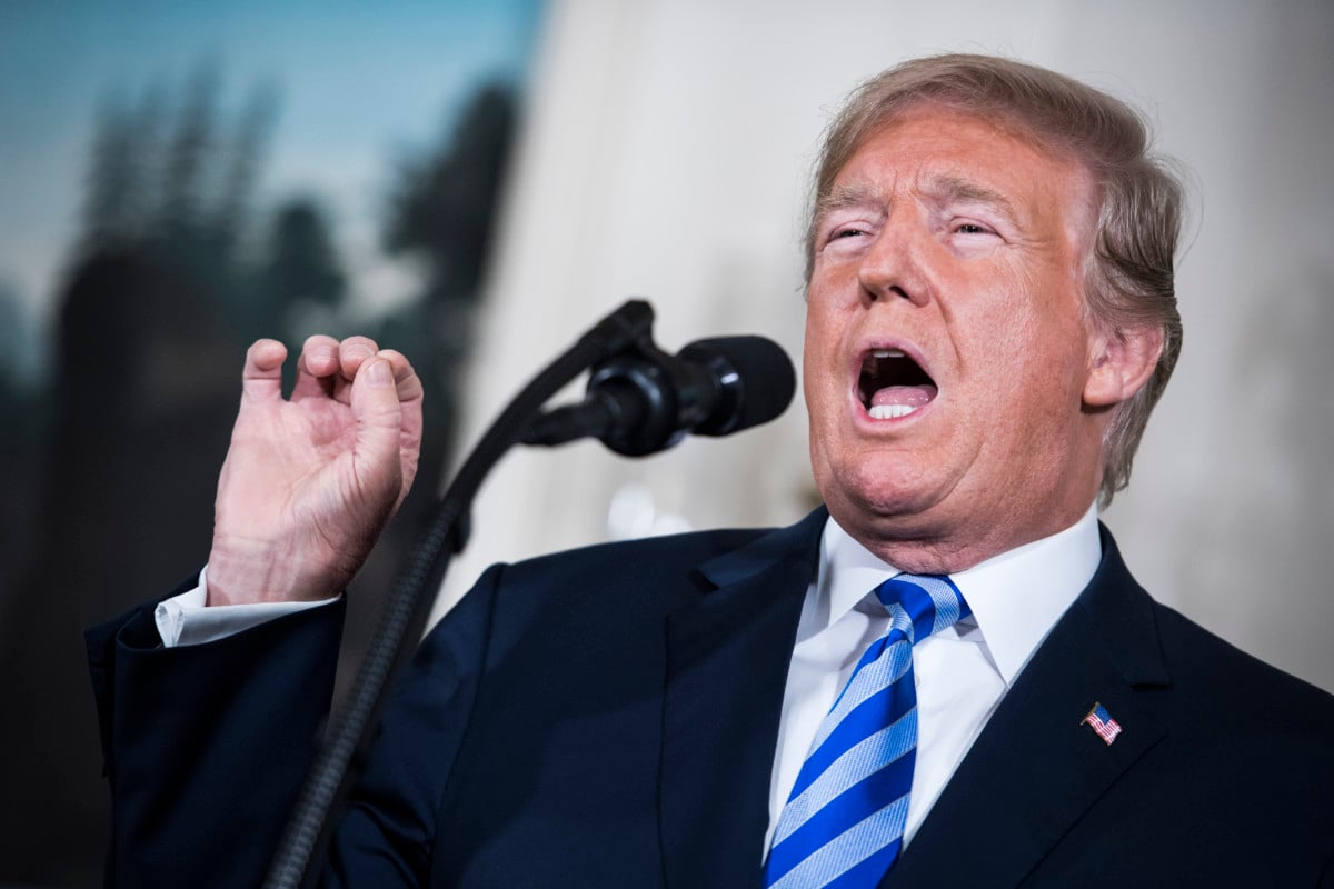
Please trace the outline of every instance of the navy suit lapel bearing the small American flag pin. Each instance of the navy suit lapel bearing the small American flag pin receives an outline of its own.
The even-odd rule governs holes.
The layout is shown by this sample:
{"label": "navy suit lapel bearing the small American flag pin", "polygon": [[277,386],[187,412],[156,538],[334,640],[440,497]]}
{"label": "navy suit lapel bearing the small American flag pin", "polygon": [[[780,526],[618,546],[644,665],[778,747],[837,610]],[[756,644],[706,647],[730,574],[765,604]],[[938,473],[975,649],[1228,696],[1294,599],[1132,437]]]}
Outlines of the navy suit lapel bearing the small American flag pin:
{"label": "navy suit lapel bearing the small American flag pin", "polygon": [[[1165,733],[1138,700],[1169,684],[1153,601],[1103,529],[1103,560],[1002,700],[882,884],[1018,885]],[[1081,721],[1101,702],[1122,726]]]}

